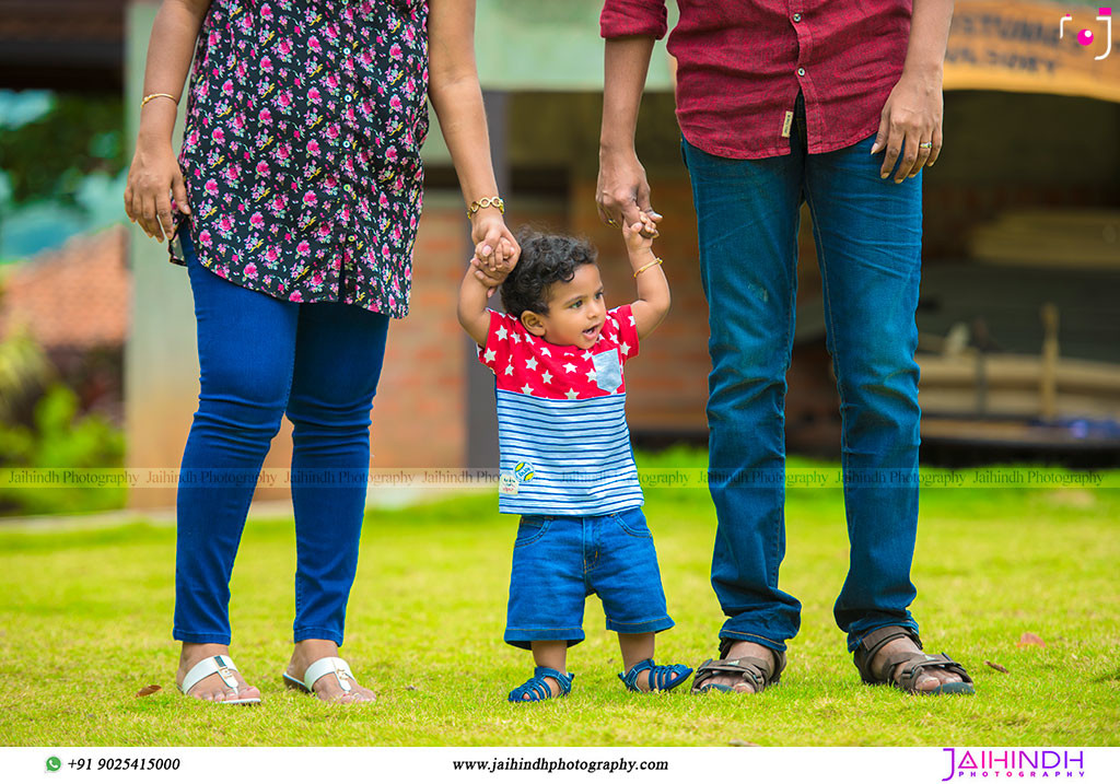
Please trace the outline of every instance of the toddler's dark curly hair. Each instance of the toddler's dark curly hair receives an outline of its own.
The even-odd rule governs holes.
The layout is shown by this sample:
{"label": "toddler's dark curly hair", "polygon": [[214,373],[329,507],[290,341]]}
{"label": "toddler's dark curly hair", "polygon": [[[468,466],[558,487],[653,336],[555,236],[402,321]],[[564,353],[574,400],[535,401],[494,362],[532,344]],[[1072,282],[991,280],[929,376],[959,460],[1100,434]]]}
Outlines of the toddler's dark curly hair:
{"label": "toddler's dark curly hair", "polygon": [[502,307],[511,316],[526,310],[549,311],[549,288],[570,282],[576,270],[594,264],[598,253],[589,242],[562,234],[543,234],[532,228],[517,232],[521,258],[502,283]]}

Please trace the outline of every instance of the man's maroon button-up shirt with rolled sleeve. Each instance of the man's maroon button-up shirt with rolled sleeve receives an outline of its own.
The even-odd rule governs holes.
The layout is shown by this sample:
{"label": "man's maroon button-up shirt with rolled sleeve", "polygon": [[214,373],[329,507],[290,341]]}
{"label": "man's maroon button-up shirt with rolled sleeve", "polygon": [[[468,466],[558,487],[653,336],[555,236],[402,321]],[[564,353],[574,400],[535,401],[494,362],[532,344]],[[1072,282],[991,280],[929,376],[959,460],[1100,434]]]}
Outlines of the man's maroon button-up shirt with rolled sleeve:
{"label": "man's maroon button-up shirt with rolled sleeve", "polygon": [[[809,152],[878,130],[903,73],[912,0],[678,0],[676,120],[688,141],[725,158],[788,155],[799,90]],[[606,0],[604,38],[668,29],[665,0]]]}

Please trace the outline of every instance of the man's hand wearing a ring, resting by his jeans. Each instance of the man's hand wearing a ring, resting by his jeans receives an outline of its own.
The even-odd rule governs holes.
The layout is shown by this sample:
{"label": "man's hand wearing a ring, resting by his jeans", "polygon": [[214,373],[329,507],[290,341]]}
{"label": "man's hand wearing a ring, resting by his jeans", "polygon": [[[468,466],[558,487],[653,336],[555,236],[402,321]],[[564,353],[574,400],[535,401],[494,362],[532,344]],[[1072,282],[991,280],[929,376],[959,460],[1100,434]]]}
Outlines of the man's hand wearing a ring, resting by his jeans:
{"label": "man's hand wearing a ring, resting by his jeans", "polygon": [[933,166],[941,155],[944,99],[941,73],[916,74],[903,71],[890,91],[879,119],[871,155],[887,151],[879,176],[890,176],[895,162],[895,183],[916,177],[923,166]]}

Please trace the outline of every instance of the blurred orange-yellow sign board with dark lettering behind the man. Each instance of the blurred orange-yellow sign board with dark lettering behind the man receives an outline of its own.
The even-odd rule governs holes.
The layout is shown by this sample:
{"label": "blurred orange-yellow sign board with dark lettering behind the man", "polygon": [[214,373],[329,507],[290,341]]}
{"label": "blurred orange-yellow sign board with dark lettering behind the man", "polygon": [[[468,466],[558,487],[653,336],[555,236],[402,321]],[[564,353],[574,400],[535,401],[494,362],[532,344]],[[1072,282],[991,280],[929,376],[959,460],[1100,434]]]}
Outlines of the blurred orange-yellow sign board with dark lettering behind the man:
{"label": "blurred orange-yellow sign board with dark lettering behind the man", "polygon": [[1112,44],[1111,8],[959,0],[945,53],[945,90],[1120,102],[1120,47]]}

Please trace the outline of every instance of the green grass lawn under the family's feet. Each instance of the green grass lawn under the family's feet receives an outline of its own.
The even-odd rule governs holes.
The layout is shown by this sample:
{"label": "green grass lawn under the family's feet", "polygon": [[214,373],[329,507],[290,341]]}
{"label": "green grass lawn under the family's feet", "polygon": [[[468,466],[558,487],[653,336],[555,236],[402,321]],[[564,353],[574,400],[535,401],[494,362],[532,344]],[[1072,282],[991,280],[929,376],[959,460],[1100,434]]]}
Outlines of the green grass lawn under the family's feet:
{"label": "green grass lawn under the family's feet", "polygon": [[[511,706],[506,692],[532,664],[502,642],[515,519],[496,506],[487,494],[367,515],[343,655],[379,699],[348,708],[280,682],[290,519],[250,520],[234,571],[232,652],[263,693],[258,708],[204,704],[175,689],[174,529],[0,530],[0,744],[1120,744],[1120,491],[922,492],[913,612],[927,650],[969,668],[972,698],[859,682],[831,613],[847,567],[842,494],[796,489],[782,585],[804,612],[780,687],[757,697],[626,693],[592,597],[588,638],[569,656],[571,697]],[[684,488],[647,492],[645,511],[676,620],[659,635],[657,660],[696,666],[715,655],[722,622],[708,580],[715,512],[706,491]],[[1025,632],[1046,646],[1017,646]],[[148,683],[162,691],[134,697]]]}

